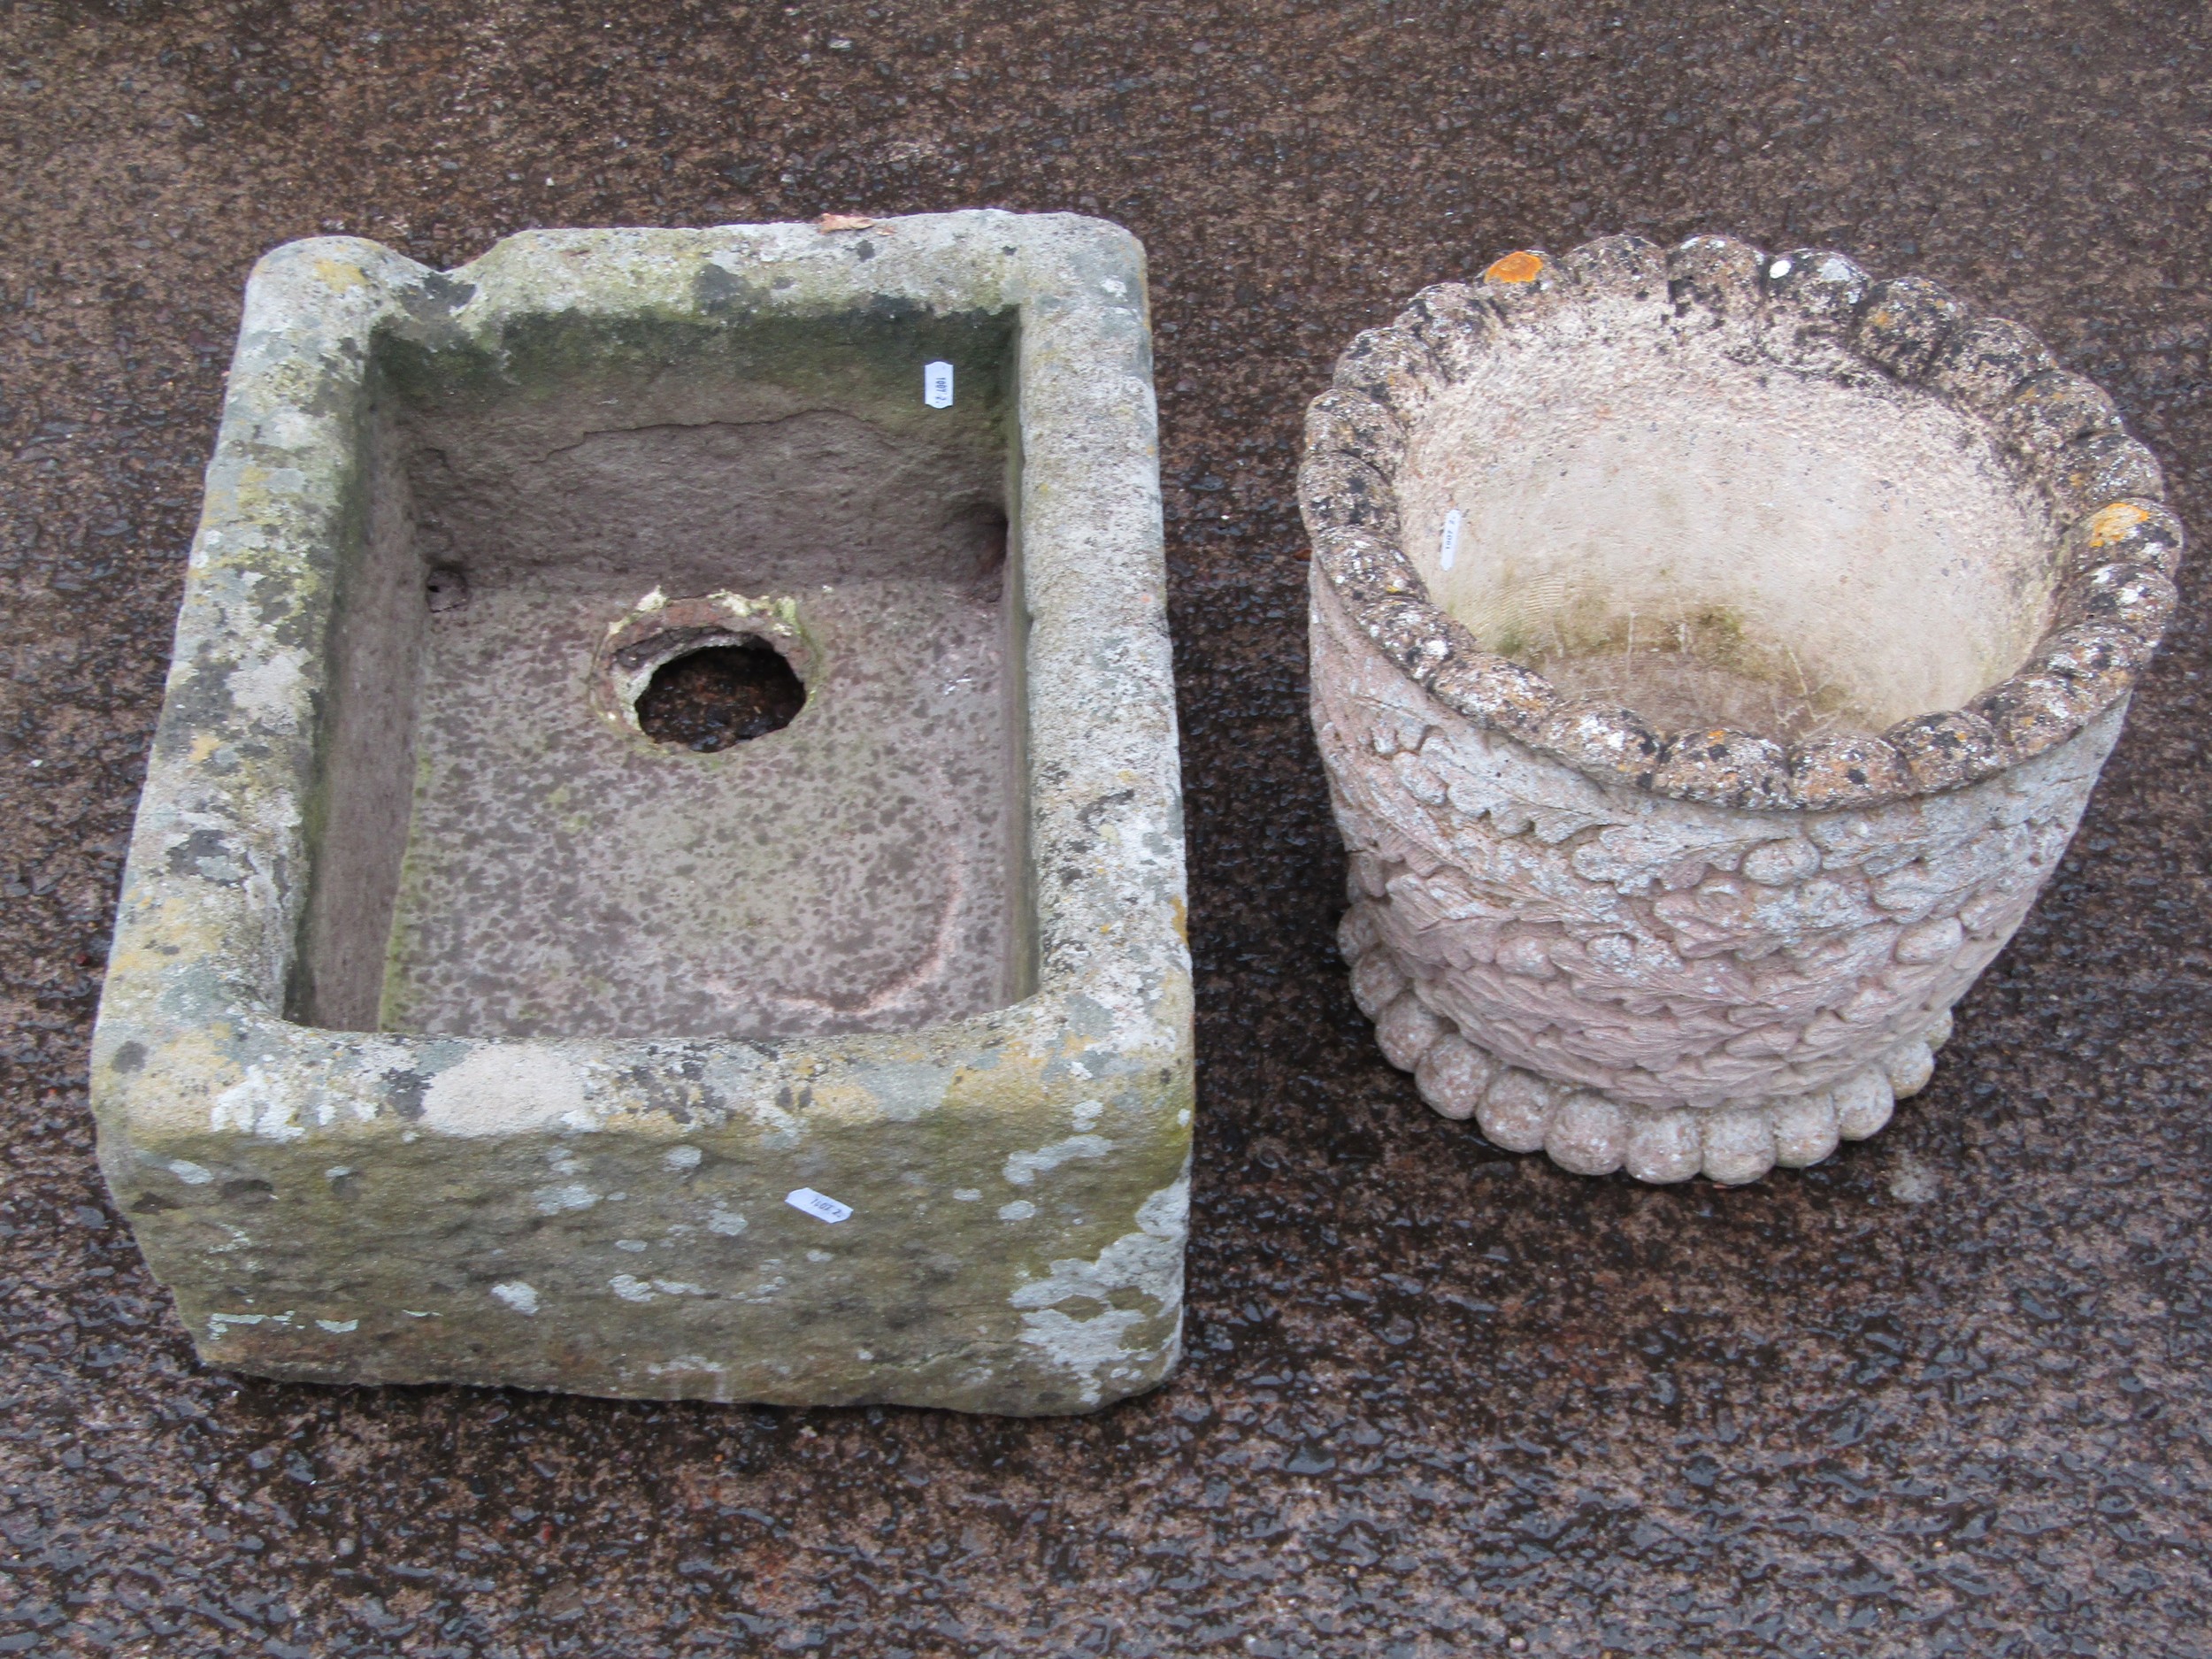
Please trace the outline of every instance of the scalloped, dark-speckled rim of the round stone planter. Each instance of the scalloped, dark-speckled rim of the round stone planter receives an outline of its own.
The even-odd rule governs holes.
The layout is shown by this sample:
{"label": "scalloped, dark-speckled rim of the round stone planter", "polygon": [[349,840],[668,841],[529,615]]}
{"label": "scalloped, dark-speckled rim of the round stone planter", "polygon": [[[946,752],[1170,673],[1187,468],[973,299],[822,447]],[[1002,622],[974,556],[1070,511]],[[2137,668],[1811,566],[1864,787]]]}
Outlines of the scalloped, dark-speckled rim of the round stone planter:
{"label": "scalloped, dark-speckled rim of the round stone planter", "polygon": [[[1604,699],[1484,650],[1438,608],[1400,544],[1398,467],[1429,398],[1502,332],[1593,299],[1648,301],[1681,325],[1759,314],[1807,349],[1845,352],[1982,422],[2048,504],[2059,586],[2026,661],[1964,708],[1878,737],[1781,743],[1756,732],[1652,730]],[[1511,252],[1473,283],[1438,283],[1356,336],[1305,425],[1298,504],[1321,573],[1360,630],[1447,708],[1599,781],[1723,807],[1878,805],[1955,790],[2066,741],[2112,708],[2174,608],[2181,522],[2152,453],[2112,400],[2055,367],[2017,323],[1978,316],[1922,276],[1874,281],[1838,252],[1770,257],[1730,237],[1666,250],[1604,237],[1562,259]]]}

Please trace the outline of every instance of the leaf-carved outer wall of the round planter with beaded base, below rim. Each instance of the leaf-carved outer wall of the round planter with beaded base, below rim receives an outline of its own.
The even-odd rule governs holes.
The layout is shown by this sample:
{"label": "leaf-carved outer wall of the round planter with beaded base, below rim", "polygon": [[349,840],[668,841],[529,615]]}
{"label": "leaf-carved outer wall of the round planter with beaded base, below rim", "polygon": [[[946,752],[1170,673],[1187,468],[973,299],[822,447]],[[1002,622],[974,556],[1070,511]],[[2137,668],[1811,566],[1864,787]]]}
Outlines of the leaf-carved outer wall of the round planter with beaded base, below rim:
{"label": "leaf-carved outer wall of the round planter with beaded base, below rim", "polygon": [[2124,714],[1964,790],[1734,812],[1473,726],[1312,586],[1360,1009],[1433,1106],[1595,1175],[1752,1179],[1882,1128],[2057,867]]}

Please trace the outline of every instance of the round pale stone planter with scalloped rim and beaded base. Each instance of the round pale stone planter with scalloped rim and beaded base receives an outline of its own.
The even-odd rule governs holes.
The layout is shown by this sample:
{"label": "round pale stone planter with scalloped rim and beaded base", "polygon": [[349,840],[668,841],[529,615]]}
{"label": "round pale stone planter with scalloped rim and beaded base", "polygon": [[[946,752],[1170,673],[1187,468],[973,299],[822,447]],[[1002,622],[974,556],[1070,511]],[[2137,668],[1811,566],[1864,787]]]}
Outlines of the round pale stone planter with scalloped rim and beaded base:
{"label": "round pale stone planter with scalloped rim and beaded base", "polygon": [[2174,604],[2152,456],[1834,252],[1506,254],[1307,416],[1340,942],[1444,1117],[1752,1181],[1918,1091]]}

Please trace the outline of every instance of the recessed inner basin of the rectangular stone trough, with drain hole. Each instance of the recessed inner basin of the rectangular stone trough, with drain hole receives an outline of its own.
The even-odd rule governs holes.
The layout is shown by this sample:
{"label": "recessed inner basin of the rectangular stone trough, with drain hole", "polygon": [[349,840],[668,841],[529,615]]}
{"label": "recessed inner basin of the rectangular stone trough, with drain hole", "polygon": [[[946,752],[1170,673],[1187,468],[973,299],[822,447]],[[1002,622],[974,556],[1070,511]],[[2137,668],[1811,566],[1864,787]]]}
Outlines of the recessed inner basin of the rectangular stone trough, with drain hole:
{"label": "recessed inner basin of the rectangular stone trough, with drain hole", "polygon": [[728,1040],[1026,995],[1011,363],[1000,316],[380,341],[292,1018]]}

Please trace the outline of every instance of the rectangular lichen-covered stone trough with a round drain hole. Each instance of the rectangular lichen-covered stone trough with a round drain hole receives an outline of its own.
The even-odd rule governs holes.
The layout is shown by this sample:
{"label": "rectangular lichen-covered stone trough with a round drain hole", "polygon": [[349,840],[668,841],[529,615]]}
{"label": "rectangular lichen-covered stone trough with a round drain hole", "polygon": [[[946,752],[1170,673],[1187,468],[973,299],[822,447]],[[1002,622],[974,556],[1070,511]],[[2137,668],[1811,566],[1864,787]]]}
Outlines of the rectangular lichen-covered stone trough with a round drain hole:
{"label": "rectangular lichen-covered stone trough with a round drain hole", "polygon": [[257,268],[93,1042],[199,1354],[1079,1411],[1181,1332],[1144,257]]}

